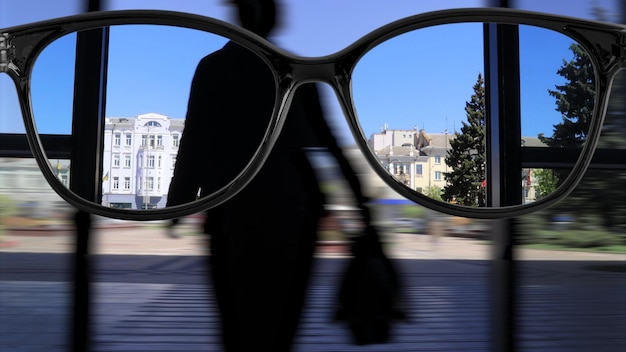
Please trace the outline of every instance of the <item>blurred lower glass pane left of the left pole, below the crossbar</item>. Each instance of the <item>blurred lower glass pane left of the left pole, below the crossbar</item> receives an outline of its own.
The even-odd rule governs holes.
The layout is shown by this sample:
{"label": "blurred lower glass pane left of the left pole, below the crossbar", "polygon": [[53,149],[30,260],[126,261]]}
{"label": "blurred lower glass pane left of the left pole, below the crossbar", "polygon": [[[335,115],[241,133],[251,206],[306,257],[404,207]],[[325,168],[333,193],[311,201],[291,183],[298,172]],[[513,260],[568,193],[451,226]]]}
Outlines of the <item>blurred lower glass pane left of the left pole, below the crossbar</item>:
{"label": "blurred lower glass pane left of the left pole, below the crossbar", "polygon": [[0,349],[67,351],[72,210],[34,160],[0,158],[0,213]]}

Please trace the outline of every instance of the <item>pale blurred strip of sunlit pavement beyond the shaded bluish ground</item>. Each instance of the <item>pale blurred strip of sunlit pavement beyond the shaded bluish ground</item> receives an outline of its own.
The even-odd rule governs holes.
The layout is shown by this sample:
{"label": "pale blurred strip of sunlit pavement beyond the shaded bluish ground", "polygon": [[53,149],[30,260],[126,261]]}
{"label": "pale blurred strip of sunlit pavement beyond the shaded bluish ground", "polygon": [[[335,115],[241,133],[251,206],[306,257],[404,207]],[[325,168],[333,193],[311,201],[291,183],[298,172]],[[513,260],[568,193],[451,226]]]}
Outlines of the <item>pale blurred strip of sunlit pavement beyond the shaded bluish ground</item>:
{"label": "pale blurred strip of sunlit pavement beyond the shaded bluish ground", "polygon": [[[97,228],[93,232],[94,254],[133,254],[133,255],[204,255],[206,238],[197,233],[197,224],[185,223],[180,226],[181,238],[172,239],[161,222],[113,223],[108,227]],[[42,232],[38,236],[13,231],[3,236],[2,252],[67,253],[73,251],[72,233],[68,231]],[[388,254],[403,259],[473,259],[490,258],[488,242],[459,238],[430,238],[422,234],[389,234],[384,236]],[[593,253],[575,251],[554,251],[518,249],[519,260],[567,260],[567,261],[626,261],[626,254]],[[342,251],[319,251],[320,257],[342,257]]]}

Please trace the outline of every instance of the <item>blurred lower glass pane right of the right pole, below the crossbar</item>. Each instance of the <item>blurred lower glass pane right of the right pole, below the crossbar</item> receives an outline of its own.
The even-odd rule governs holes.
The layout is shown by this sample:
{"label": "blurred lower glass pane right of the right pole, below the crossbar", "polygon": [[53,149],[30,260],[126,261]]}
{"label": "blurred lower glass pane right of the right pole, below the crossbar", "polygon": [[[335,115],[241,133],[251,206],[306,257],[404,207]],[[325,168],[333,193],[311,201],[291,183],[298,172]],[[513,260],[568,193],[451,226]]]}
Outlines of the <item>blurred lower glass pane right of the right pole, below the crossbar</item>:
{"label": "blurred lower glass pane right of the right pole, below the crossbar", "polygon": [[626,348],[620,170],[593,170],[558,205],[519,219],[521,351]]}

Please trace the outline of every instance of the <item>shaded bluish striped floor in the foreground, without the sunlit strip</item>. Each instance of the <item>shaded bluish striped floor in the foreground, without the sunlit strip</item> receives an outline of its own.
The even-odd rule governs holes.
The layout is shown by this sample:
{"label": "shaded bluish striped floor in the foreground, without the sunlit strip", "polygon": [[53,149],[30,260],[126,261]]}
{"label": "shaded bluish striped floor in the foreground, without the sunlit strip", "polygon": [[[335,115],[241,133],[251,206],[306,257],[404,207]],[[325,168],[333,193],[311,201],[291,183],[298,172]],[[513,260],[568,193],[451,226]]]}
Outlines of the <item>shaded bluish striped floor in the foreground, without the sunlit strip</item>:
{"label": "shaded bluish striped floor in the foreground, without the sunlit strip", "polygon": [[[220,350],[215,307],[206,299],[210,288],[201,282],[200,257],[99,260],[99,282],[93,288],[94,351]],[[134,263],[132,269],[120,270],[129,263]],[[392,343],[373,346],[353,346],[345,328],[330,319],[333,283],[343,263],[318,261],[295,351],[488,350],[486,262],[398,261],[408,286],[411,319],[396,325]],[[520,351],[626,350],[624,273],[586,270],[593,264],[575,261],[524,264]],[[67,351],[69,297],[70,286],[63,281],[0,281],[1,350]]]}

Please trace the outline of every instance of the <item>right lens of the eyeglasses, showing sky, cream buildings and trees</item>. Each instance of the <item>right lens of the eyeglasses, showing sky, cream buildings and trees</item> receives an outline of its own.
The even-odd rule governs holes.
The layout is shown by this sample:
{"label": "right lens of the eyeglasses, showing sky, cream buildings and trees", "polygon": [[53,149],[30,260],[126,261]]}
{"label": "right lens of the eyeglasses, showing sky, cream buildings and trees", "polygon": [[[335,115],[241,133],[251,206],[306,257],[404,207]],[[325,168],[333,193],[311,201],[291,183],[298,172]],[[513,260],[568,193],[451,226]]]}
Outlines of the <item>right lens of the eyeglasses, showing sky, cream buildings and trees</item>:
{"label": "right lens of the eyeglasses, showing sky, cream buildings and trees", "polygon": [[[562,170],[580,155],[593,116],[594,70],[570,37],[518,27],[520,148],[532,148],[542,159],[530,164],[559,168],[554,173],[562,181],[569,175]],[[409,31],[375,46],[356,64],[352,94],[358,122],[379,159],[374,167],[383,168],[396,187],[437,201],[486,206],[483,29],[484,23],[476,22]],[[519,170],[524,187],[519,204],[554,192],[553,183],[543,184],[548,178],[527,171]]]}

